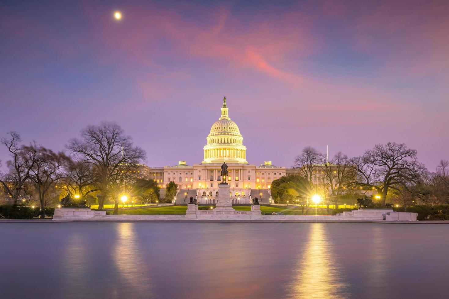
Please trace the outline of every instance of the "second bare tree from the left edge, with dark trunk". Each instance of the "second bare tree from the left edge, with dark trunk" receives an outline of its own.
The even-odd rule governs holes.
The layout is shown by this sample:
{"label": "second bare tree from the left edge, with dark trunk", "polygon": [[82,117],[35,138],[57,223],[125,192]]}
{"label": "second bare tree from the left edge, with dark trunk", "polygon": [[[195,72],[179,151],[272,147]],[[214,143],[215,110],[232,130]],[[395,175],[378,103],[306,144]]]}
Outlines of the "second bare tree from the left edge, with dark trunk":
{"label": "second bare tree from the left edge, with dark trunk", "polygon": [[[28,149],[31,151],[32,149]],[[64,153],[54,153],[44,147],[37,147],[36,158],[33,168],[30,171],[30,178],[33,182],[34,191],[39,199],[41,217],[45,217],[45,208],[58,200],[55,185],[65,177],[64,160],[67,159]]]}

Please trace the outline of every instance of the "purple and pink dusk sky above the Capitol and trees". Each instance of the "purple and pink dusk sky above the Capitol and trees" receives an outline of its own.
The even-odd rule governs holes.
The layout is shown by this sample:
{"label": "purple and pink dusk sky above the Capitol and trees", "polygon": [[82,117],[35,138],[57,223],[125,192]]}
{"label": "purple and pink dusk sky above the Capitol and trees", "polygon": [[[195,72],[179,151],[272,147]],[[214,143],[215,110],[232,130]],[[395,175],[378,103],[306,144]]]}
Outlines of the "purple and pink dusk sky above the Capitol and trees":
{"label": "purple and pink dusk sky above the Capitol and trees", "polygon": [[116,121],[147,165],[193,165],[226,96],[249,163],[392,141],[434,171],[449,159],[448,16],[447,0],[3,0],[0,136],[60,151]]}

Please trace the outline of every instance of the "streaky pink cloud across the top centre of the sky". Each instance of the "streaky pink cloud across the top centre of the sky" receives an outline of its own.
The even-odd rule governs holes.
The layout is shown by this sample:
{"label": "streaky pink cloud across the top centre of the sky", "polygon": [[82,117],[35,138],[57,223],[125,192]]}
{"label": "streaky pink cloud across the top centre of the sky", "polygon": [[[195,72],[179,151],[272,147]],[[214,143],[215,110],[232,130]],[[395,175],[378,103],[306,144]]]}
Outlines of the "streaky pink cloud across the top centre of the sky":
{"label": "streaky pink cloud across the top centre of the sky", "polygon": [[[170,56],[207,60],[220,60],[232,68],[252,68],[281,80],[300,79],[283,71],[288,65],[286,56],[304,58],[315,47],[308,33],[310,17],[301,13],[284,13],[275,20],[260,20],[249,25],[232,17],[227,9],[203,12],[206,18],[198,24],[176,11],[156,7],[133,8],[123,12],[123,22],[114,22],[111,16],[100,17],[97,10],[87,8],[95,21],[96,35],[115,55],[100,51],[103,60],[120,58],[122,63],[134,63],[167,71],[156,63]],[[101,11],[103,13],[103,11]],[[97,20],[100,20],[97,22]],[[132,29],[131,29],[132,28]],[[160,43],[168,44],[161,49]],[[123,59],[123,54],[126,58]],[[277,66],[280,65],[280,66]]]}

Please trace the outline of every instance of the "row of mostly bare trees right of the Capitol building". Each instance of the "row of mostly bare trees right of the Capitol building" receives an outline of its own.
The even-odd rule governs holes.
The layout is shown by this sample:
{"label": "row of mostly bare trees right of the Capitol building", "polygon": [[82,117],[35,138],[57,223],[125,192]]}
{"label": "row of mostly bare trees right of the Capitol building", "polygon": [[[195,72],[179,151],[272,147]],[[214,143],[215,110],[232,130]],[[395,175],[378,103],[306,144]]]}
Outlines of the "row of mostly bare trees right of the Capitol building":
{"label": "row of mostly bare trees right of the Capitol building", "polygon": [[435,171],[428,171],[418,161],[417,151],[404,143],[378,144],[352,158],[338,152],[329,160],[315,148],[305,147],[294,163],[297,175],[273,181],[271,192],[277,203],[310,203],[313,195],[326,205],[354,204],[357,197],[405,209],[449,202],[449,161],[441,160]]}

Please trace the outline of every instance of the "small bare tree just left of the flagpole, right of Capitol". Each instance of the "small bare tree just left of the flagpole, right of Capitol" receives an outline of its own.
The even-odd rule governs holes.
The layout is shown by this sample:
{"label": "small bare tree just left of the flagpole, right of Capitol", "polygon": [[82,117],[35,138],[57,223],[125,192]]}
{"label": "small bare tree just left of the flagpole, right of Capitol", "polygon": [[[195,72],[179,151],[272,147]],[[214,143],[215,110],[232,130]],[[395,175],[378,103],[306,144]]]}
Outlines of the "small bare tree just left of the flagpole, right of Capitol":
{"label": "small bare tree just left of the flagpole, right of Capitol", "polygon": [[318,164],[321,162],[322,154],[313,147],[304,147],[301,154],[295,157],[294,168],[302,177],[313,183],[317,179]]}

